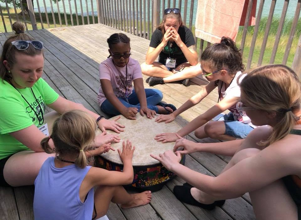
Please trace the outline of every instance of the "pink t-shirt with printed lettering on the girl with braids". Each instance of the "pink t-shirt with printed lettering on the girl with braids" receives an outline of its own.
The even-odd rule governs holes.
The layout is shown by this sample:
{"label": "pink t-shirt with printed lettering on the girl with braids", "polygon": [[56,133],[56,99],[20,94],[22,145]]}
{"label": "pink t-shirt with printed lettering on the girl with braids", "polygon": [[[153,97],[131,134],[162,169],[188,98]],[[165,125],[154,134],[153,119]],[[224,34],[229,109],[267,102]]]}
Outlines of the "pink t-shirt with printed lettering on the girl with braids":
{"label": "pink t-shirt with printed lettering on the girl with braids", "polygon": [[[133,80],[138,78],[142,78],[141,67],[139,62],[131,57],[129,58],[129,62],[124,67],[116,66],[113,63],[112,57],[99,64],[99,79],[111,81],[114,94],[117,98],[125,97],[125,88],[128,96],[132,94]],[[97,99],[99,105],[101,105],[107,99],[104,96],[101,86],[99,87]]]}

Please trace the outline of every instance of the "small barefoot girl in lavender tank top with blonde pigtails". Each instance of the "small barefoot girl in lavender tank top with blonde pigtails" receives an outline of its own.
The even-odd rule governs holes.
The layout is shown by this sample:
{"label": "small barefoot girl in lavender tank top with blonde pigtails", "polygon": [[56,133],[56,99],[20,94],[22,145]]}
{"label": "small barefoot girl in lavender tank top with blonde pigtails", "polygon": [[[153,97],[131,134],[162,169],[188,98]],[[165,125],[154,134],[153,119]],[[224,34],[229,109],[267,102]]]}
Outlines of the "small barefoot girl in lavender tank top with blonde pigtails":
{"label": "small barefoot girl in lavender tank top with blonde pigtails", "polygon": [[[130,208],[148,204],[151,192],[128,194],[122,185],[133,181],[132,157],[135,146],[129,140],[118,150],[123,161],[122,172],[87,166],[86,154],[108,147],[93,149],[94,118],[81,110],[62,114],[54,123],[51,136],[41,141],[46,153],[55,153],[42,165],[34,181],[35,219],[97,219],[108,211],[111,200]],[[49,141],[52,140],[54,148]],[[94,192],[94,187],[96,187]]]}

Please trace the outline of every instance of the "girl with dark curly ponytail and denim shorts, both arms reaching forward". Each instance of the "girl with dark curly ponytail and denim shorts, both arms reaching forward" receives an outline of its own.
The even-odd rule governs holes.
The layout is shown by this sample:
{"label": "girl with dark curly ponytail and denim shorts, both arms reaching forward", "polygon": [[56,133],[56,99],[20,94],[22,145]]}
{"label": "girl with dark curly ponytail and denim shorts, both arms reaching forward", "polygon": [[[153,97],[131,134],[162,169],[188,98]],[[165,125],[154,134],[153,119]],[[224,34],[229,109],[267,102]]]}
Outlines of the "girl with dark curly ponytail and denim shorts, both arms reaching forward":
{"label": "girl with dark curly ponytail and denim shorts, both arms reaching forward", "polygon": [[[236,103],[240,100],[238,83],[246,74],[242,73],[245,66],[234,41],[229,37],[222,37],[220,43],[207,47],[202,53],[198,68],[209,83],[176,111],[169,115],[160,115],[156,121],[165,121],[165,123],[173,121],[179,114],[201,102],[216,87],[218,87],[219,94],[217,103],[177,133],[159,134],[155,139],[172,142],[178,139],[177,135],[183,137],[192,131],[195,131],[194,134],[199,139],[206,137],[218,140],[245,138],[256,126],[251,124],[248,117],[241,116],[236,108]],[[239,81],[237,81],[238,78]],[[222,114],[226,110],[230,113]],[[212,119],[213,121],[210,121]]]}

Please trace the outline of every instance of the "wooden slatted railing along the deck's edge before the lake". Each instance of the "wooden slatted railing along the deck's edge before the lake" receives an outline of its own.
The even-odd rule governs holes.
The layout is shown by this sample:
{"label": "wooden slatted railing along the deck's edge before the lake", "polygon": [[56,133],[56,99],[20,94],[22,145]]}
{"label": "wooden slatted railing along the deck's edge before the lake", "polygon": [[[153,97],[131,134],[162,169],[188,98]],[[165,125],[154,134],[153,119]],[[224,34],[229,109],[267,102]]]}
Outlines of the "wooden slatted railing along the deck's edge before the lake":
{"label": "wooden slatted railing along the deck's edge before the lake", "polygon": [[[9,5],[7,1],[11,1],[11,5]],[[16,8],[16,1],[20,3],[20,8]],[[30,25],[33,30],[37,30],[38,28],[102,23],[150,39],[151,33],[162,20],[162,12],[165,8],[180,8],[184,25],[194,32],[194,19],[197,13],[195,7],[196,1],[197,0],[96,0],[95,2],[95,0],[61,0],[54,3],[53,0],[35,0],[33,7],[31,0],[27,0],[30,18],[28,19],[28,15],[24,10],[25,8],[22,5],[22,0],[5,0],[5,3],[0,3],[0,5],[2,7],[5,5],[7,16],[4,16],[2,8],[0,8],[0,14],[4,27],[3,31],[5,32],[11,31],[11,27],[9,26],[11,26],[15,20],[23,20],[26,25],[26,30],[30,29]],[[251,6],[253,4],[253,0],[249,0],[245,26],[240,31],[240,38],[236,39],[237,45],[240,46],[241,52],[243,53],[246,69],[250,69],[256,65],[276,62],[288,64],[300,75],[301,35],[299,33],[300,31],[297,33],[297,26],[300,21],[301,0],[297,0],[297,3],[294,3],[296,9],[292,18],[289,34],[285,36],[287,41],[285,42],[285,50],[282,60],[280,61],[280,55],[277,51],[279,51],[279,47],[283,50],[283,46],[280,46],[280,42],[283,39],[282,30],[287,15],[289,0],[284,0],[277,33],[273,36],[274,44],[270,46],[272,52],[268,52],[270,55],[267,53],[267,43],[271,39],[269,38],[269,32],[273,21],[276,0],[271,0],[270,11],[263,34],[259,34],[259,29],[260,23],[262,23],[262,9],[267,3],[265,3],[264,0],[258,1],[259,8],[256,14],[256,25],[253,29],[253,33],[248,33],[247,26],[247,21],[251,14]],[[79,5],[77,5],[78,3]],[[46,4],[49,4],[50,7],[47,8]],[[9,11],[9,6],[13,7],[13,11]],[[4,19],[4,17],[8,17],[9,24],[8,21],[5,21],[6,19]],[[258,39],[258,36],[260,36],[260,39]],[[298,37],[299,39],[297,40]],[[210,43],[198,38],[195,38],[195,40],[200,57],[204,47],[209,46]],[[258,47],[259,43],[260,49],[256,49],[256,45]],[[248,44],[247,47],[246,44]],[[293,51],[291,51],[292,48],[294,48]],[[254,58],[254,54],[259,55],[256,55],[256,58]],[[267,56],[269,57],[267,58]]]}

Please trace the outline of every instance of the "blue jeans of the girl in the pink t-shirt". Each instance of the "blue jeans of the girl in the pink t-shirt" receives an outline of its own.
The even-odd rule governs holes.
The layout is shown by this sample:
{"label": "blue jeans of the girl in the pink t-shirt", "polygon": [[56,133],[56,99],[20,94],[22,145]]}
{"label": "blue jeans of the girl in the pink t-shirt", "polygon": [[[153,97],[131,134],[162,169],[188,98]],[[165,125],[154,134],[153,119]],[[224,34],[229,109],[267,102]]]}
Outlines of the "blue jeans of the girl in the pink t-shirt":
{"label": "blue jeans of the girl in the pink t-shirt", "polygon": [[[145,89],[146,95],[146,103],[147,107],[150,110],[156,111],[158,113],[158,107],[156,106],[159,102],[161,102],[163,98],[163,94],[160,90],[157,89]],[[138,108],[138,112],[140,111],[140,103],[138,100],[138,96],[133,89],[132,94],[129,96],[128,101],[126,98],[118,98],[119,101],[127,108],[136,107]],[[109,115],[120,115],[121,113],[106,99],[100,106],[100,109]]]}

